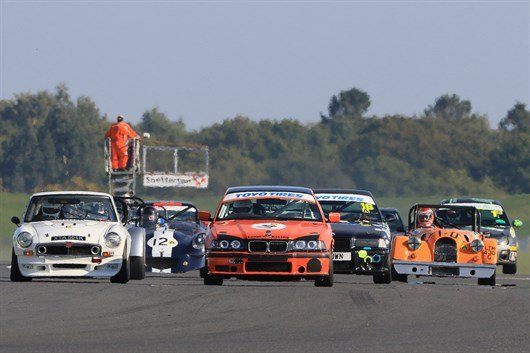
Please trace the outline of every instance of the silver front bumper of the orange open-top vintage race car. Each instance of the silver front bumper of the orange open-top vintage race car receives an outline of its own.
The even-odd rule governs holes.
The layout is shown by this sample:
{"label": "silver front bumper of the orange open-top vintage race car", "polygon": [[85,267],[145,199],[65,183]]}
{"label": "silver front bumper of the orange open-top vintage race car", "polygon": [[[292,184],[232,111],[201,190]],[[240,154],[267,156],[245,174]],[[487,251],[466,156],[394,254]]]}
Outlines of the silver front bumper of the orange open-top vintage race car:
{"label": "silver front bumper of the orange open-top vintage race car", "polygon": [[489,278],[496,270],[496,265],[401,260],[394,260],[393,266],[399,274],[437,277]]}

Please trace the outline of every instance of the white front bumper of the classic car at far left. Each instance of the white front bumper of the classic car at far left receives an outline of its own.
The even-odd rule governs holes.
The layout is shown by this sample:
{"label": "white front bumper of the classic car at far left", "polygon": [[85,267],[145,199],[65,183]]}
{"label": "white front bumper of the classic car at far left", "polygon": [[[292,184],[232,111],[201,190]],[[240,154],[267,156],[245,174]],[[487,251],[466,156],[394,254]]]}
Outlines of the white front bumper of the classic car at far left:
{"label": "white front bumper of the classic car at far left", "polygon": [[112,277],[123,263],[121,256],[97,258],[72,256],[17,256],[18,267],[25,277]]}

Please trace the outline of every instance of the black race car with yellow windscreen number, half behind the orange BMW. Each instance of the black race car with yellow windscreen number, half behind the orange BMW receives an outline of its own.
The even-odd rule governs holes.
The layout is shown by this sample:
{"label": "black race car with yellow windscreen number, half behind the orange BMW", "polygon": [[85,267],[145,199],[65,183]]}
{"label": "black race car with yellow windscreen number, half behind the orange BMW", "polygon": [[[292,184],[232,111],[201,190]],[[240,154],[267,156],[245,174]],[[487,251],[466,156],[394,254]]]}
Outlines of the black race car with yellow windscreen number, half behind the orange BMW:
{"label": "black race car with yellow windscreen number, half behind the orange BMW", "polygon": [[390,283],[390,228],[371,192],[319,189],[315,196],[325,215],[338,213],[333,229],[336,273],[372,275],[374,283]]}

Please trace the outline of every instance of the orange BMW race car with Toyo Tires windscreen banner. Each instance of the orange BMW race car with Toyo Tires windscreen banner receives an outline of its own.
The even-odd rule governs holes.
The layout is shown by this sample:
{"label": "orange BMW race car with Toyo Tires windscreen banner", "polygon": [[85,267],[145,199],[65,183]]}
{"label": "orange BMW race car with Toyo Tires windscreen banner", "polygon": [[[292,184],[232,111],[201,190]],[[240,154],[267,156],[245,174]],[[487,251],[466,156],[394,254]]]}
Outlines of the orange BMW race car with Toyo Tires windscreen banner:
{"label": "orange BMW race car with Toyo Tires windscreen banner", "polygon": [[[330,214],[330,218],[337,217]],[[206,285],[223,279],[314,280],[333,285],[332,232],[313,191],[302,187],[229,188],[206,235]]]}

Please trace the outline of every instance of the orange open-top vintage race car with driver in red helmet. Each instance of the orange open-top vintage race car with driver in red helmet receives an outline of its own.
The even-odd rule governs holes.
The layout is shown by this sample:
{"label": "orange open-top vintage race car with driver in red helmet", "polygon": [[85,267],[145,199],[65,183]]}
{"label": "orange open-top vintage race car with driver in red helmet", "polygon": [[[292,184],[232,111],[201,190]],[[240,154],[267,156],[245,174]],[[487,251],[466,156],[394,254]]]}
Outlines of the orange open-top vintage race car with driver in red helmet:
{"label": "orange open-top vintage race car with driver in red helmet", "polygon": [[394,238],[393,278],[407,275],[478,278],[495,285],[497,242],[480,231],[475,207],[414,205],[409,229]]}

